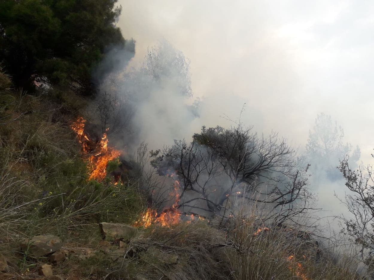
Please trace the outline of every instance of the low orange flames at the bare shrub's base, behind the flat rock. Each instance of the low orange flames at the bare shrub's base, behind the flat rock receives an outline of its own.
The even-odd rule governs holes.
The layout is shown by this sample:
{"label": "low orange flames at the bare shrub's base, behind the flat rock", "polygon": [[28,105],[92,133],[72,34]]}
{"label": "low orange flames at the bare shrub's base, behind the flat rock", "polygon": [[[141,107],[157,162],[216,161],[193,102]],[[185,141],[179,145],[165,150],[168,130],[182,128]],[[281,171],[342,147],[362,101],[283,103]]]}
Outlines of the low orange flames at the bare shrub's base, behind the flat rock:
{"label": "low orange flames at the bare shrub's base, behind the flat rock", "polygon": [[[170,176],[171,177],[171,176]],[[157,214],[155,209],[148,208],[147,211],[142,215],[142,217],[134,223],[135,227],[149,227],[151,224],[159,224],[163,227],[170,227],[181,222],[181,216],[183,215],[178,208],[178,203],[180,200],[180,183],[178,180],[174,181],[173,190],[169,194],[171,199],[174,199],[174,203],[171,207],[163,209],[160,214]],[[195,220],[195,215],[186,215],[190,219],[187,223]],[[199,220],[204,220],[205,218],[199,216]]]}

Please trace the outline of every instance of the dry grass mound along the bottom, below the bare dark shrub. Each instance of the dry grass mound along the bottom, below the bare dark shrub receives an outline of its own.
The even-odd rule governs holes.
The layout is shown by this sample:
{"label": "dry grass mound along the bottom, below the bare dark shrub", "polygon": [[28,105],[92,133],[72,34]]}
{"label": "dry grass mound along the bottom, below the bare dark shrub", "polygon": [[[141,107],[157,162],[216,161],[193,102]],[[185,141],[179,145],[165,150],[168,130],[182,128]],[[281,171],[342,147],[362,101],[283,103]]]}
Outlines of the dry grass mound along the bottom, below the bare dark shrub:
{"label": "dry grass mound along the bottom, below the bare dark shrub", "polygon": [[108,264],[100,253],[82,262],[82,279],[359,279],[327,253],[317,260],[316,248],[290,230],[269,227],[254,235],[257,230],[254,220],[226,231],[206,221],[151,224],[129,241],[116,263]]}

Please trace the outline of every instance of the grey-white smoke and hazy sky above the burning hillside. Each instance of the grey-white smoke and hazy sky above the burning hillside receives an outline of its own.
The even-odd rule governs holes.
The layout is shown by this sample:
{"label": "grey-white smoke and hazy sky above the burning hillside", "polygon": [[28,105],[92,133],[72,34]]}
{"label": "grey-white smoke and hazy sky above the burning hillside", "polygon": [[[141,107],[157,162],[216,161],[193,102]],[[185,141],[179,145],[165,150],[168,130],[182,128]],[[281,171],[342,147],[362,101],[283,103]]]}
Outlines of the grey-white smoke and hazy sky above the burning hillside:
{"label": "grey-white smoke and hazy sky above the burning hillside", "polygon": [[[358,144],[362,160],[372,162],[373,3],[120,2],[118,24],[137,41],[136,54],[119,59],[102,91],[115,84],[108,92],[126,100],[122,116],[131,129],[124,143],[135,149],[144,140],[157,149],[190,141],[202,125],[229,127],[220,116],[235,118],[246,103],[241,121],[259,133],[279,131],[300,147],[319,206],[333,211],[326,215],[344,213],[334,197],[345,190],[334,165],[344,153],[358,155],[344,143]],[[319,112],[345,127],[341,142],[334,122],[324,131],[338,137],[325,153],[315,149],[315,135],[304,149]]]}

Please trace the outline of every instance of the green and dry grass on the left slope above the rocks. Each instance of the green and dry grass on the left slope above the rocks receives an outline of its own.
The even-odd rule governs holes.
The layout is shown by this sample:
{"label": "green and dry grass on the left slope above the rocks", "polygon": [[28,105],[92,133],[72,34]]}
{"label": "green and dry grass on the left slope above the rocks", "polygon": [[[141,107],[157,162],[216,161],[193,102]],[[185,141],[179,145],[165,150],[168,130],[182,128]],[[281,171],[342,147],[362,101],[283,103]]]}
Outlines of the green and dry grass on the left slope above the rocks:
{"label": "green and dry grass on the left slope above the rocks", "polygon": [[109,179],[87,181],[64,108],[45,97],[1,90],[0,105],[0,251],[14,255],[18,240],[30,235],[64,236],[138,216],[144,205],[137,181],[117,187]]}

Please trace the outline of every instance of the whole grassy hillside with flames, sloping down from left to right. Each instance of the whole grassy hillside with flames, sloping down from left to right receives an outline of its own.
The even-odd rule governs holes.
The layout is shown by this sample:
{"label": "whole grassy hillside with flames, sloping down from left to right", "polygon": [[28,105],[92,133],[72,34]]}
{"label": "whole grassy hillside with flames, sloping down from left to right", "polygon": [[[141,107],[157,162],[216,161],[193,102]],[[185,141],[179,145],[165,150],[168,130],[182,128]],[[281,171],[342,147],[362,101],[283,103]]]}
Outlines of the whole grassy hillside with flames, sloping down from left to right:
{"label": "whole grassy hillside with flames, sloping down from left to right", "polygon": [[[295,225],[265,227],[244,206],[224,225],[219,217],[147,218],[147,180],[125,172],[139,162],[125,167],[105,136],[82,134],[89,99],[68,88],[29,95],[3,72],[0,90],[1,279],[358,279],[352,259],[336,262],[312,234]],[[93,175],[97,168],[101,174]],[[135,229],[104,230],[104,239],[103,222]],[[36,253],[44,243],[35,236],[46,234],[55,236],[48,246],[60,240]],[[54,276],[40,275],[45,264]]]}

